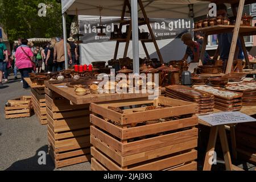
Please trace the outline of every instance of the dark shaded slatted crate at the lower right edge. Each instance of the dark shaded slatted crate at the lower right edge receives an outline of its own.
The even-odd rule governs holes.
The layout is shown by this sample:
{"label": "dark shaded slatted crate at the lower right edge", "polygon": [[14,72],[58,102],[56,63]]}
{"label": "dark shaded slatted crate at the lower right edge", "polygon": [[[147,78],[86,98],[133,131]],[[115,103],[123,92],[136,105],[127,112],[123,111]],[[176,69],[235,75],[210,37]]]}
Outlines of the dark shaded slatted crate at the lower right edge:
{"label": "dark shaded slatted crate at the lower right edge", "polygon": [[236,125],[238,157],[256,164],[256,122]]}

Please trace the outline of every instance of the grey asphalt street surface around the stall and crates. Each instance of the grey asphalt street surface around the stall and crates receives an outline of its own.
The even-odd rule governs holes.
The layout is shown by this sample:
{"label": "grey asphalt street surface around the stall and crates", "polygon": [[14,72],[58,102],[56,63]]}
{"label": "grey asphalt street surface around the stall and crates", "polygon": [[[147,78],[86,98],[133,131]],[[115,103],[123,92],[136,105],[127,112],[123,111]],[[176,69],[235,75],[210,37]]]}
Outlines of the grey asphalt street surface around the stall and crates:
{"label": "grey asphalt street surface around the stall and crates", "polygon": [[[0,170],[90,171],[89,162],[55,169],[52,159],[48,155],[47,126],[40,125],[35,115],[30,118],[5,119],[4,107],[8,100],[30,95],[30,90],[22,90],[20,80],[13,81],[11,79],[8,84],[0,87]],[[205,138],[205,136],[201,135],[201,138]],[[39,151],[47,153],[46,165],[38,164]],[[204,152],[203,150],[199,151],[199,169],[203,168]],[[255,170],[252,164],[246,162],[233,161],[233,163],[245,170]],[[225,170],[225,166],[220,162],[213,165],[213,170]]]}

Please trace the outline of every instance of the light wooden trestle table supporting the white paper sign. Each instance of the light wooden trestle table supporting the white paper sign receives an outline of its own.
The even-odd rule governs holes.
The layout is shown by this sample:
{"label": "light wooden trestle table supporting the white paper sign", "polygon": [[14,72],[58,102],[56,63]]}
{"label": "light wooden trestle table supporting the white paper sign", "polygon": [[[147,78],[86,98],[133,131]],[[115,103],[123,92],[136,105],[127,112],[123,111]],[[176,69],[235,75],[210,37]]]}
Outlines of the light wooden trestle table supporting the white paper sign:
{"label": "light wooden trestle table supporting the white paper sign", "polygon": [[[220,113],[221,110],[214,109],[214,113]],[[244,106],[240,110],[241,113],[247,114],[247,115],[254,115],[256,114],[256,106]],[[205,125],[210,127],[210,135],[208,140],[208,146],[207,146],[207,152],[204,159],[204,171],[210,171],[212,168],[212,164],[209,163],[209,159],[211,158],[212,152],[214,152],[215,145],[216,145],[216,139],[217,135],[220,137],[221,147],[224,154],[224,161],[226,170],[232,171],[235,167],[232,165],[232,161],[230,158],[230,151],[228,146],[228,139],[226,137],[226,131],[225,131],[225,125],[218,125],[218,126],[212,126],[209,123],[199,119],[200,125]],[[236,124],[230,124],[230,134],[231,134],[231,142],[232,142],[232,153],[234,155],[234,158],[237,156],[236,152],[236,135],[234,130],[234,125]],[[237,169],[237,168],[236,168]]]}

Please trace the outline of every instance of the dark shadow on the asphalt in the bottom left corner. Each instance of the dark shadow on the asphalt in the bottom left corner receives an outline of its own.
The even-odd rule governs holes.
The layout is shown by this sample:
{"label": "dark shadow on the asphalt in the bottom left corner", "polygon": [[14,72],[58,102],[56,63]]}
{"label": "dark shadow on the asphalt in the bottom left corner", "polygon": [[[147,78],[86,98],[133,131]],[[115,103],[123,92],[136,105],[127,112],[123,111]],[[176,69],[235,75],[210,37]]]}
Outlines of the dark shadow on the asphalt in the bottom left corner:
{"label": "dark shadow on the asphalt in the bottom left corner", "polygon": [[[42,161],[42,155],[38,155],[40,151],[46,152],[46,165],[39,165],[38,160]],[[13,164],[5,171],[53,171],[55,169],[55,165],[52,162],[51,156],[48,153],[48,146],[45,145],[39,148],[36,151],[36,154],[32,156],[32,158],[19,160]],[[40,158],[40,159],[39,159]]]}

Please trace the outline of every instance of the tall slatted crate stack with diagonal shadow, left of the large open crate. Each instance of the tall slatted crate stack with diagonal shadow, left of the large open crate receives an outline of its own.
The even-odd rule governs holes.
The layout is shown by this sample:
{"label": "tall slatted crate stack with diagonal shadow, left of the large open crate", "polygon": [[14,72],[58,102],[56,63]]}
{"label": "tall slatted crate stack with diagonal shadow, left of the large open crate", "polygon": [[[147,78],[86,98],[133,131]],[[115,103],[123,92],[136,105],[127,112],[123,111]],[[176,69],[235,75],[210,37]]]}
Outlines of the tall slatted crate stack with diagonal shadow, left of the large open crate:
{"label": "tall slatted crate stack with diagonal shadow, left of the large open crate", "polygon": [[90,160],[89,104],[70,101],[46,88],[49,154],[56,168]]}

